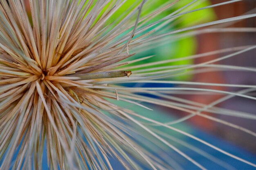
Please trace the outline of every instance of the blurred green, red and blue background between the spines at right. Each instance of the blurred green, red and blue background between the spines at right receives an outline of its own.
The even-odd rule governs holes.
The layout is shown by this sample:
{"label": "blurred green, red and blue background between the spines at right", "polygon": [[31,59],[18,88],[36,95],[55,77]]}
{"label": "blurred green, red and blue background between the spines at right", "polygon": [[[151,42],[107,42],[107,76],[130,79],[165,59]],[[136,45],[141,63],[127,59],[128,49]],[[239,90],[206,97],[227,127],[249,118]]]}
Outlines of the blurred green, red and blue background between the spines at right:
{"label": "blurred green, red and blue background between the spines at right", "polygon": [[[155,3],[163,3],[166,1],[158,0]],[[191,2],[189,0],[183,0],[179,3],[180,7],[182,5]],[[204,7],[210,4],[217,4],[225,2],[225,0],[205,0],[196,8]],[[184,3],[184,4],[183,4]],[[179,7],[177,5],[177,7]],[[193,8],[192,8],[193,9]],[[198,11],[195,13],[191,13],[191,15],[184,15],[180,17],[179,20],[175,20],[172,24],[166,26],[164,29],[178,29],[178,28],[186,28],[191,25],[200,24],[203,22],[210,22],[213,20],[221,20],[229,17],[236,17],[245,14],[256,13],[256,1],[255,0],[243,0],[236,3],[231,3],[219,7],[214,7],[212,9],[206,9],[202,11]],[[256,18],[249,18],[247,20],[242,20],[238,22],[229,22],[225,24],[220,24],[216,26],[210,26],[209,28],[256,28]],[[190,56],[193,54],[200,54],[204,52],[210,52],[219,49],[231,48],[231,47],[239,47],[239,46],[250,46],[256,43],[256,33],[245,33],[245,32],[236,32],[236,33],[205,33],[202,35],[194,35],[189,37],[184,37],[177,41],[166,41],[164,45],[158,48],[153,48],[144,53],[144,56],[156,55],[158,59],[173,59],[173,58],[182,58],[186,56]],[[229,53],[215,54],[210,55],[208,57],[201,57],[198,59],[190,59],[190,60],[182,60],[173,63],[166,63],[162,66],[168,65],[186,65],[186,64],[198,64],[214,59],[218,59]],[[250,50],[249,52],[245,52],[243,54],[238,54],[229,59],[225,59],[213,64],[219,65],[235,65],[242,67],[256,67],[256,50]],[[138,55],[139,57],[139,55]],[[151,59],[154,61],[154,58]],[[143,64],[143,63],[142,63]],[[221,83],[221,84],[240,84],[240,85],[255,85],[256,84],[256,73],[255,72],[245,72],[245,71],[236,71],[236,70],[213,70],[209,72],[203,72],[198,74],[191,74],[186,76],[174,76],[169,78],[169,80],[177,80],[177,81],[193,81],[193,82],[204,82],[204,83]],[[131,85],[132,86],[132,85]],[[177,87],[177,85],[170,84],[136,84],[136,87]],[[242,88],[237,87],[221,87],[221,86],[187,86],[180,85],[178,87],[197,87],[197,88],[207,88],[207,89],[215,89],[215,90],[223,90],[229,92],[238,92]],[[222,95],[217,94],[198,94],[193,92],[187,92],[184,94],[170,94],[176,97],[184,98],[187,100],[191,100],[194,102],[199,102],[203,104],[209,104],[219,98],[223,97]],[[254,91],[250,92],[251,96],[255,96]],[[171,101],[171,100],[170,100]],[[230,109],[234,111],[241,111],[255,115],[256,114],[256,105],[254,100],[241,98],[241,97],[232,97],[225,102],[222,102],[217,105],[218,107],[224,109]],[[168,122],[168,120],[177,120],[184,116],[186,113],[178,112],[174,109],[165,108],[165,107],[157,107],[155,111],[159,112],[159,114],[155,114],[152,116],[153,119],[159,120],[160,122]],[[159,116],[161,113],[164,113],[164,116]],[[140,113],[143,113],[141,111]],[[255,120],[238,118],[227,115],[216,115],[211,113],[205,113],[210,116],[214,116],[221,120],[226,120],[233,124],[237,124],[239,126],[250,129],[251,131],[256,131]],[[148,114],[147,114],[148,116]],[[188,131],[189,133],[199,137],[200,139],[204,139],[211,144],[218,146],[225,151],[228,151],[234,155],[243,157],[244,159],[250,160],[252,162],[256,162],[256,141],[255,137],[252,135],[248,135],[238,129],[231,128],[229,126],[225,126],[218,122],[213,122],[211,120],[207,120],[205,118],[195,116],[186,120],[175,127],[179,127],[180,129],[184,129],[184,131]],[[160,128],[159,128],[160,129]],[[161,129],[164,131],[164,129]],[[168,133],[168,132],[167,132]],[[209,147],[205,147],[202,144],[195,142],[192,139],[181,137],[177,134],[169,134],[181,139],[182,142],[186,142],[187,144],[191,144],[191,146],[195,146],[201,151],[208,153],[208,156],[213,156],[221,159],[226,164],[222,164],[219,162],[209,161],[209,157],[205,155],[202,156],[195,151],[191,151],[191,149],[187,149],[184,145],[176,144],[178,148],[180,148],[184,153],[187,153],[189,156],[193,157],[196,161],[202,163],[206,168],[212,170],[220,170],[220,169],[253,169],[250,166],[245,165],[233,158],[230,158],[226,155],[218,153],[216,150],[213,150]],[[177,136],[175,136],[177,135]],[[177,142],[177,141],[176,141]],[[181,141],[180,141],[181,142]],[[177,143],[180,143],[177,142]],[[172,143],[173,144],[173,143]],[[175,142],[174,142],[175,145]],[[173,154],[173,158],[179,161],[180,156],[176,155],[172,151],[169,151],[168,154]],[[183,168],[188,170],[197,169],[191,163],[186,164],[185,162],[181,163],[185,165]],[[220,165],[221,164],[221,165]],[[181,168],[181,167],[176,167]]]}

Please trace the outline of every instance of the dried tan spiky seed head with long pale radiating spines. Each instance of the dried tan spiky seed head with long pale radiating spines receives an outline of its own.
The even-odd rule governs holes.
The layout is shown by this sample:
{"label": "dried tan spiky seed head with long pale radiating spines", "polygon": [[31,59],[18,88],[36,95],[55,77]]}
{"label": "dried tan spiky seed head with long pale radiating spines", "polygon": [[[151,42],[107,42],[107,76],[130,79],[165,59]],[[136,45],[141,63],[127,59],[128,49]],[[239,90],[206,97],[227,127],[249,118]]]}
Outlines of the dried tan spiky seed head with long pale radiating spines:
{"label": "dried tan spiky seed head with long pale radiating spines", "polygon": [[[112,15],[123,7],[126,0],[29,0],[30,20],[25,1],[1,0],[0,163],[2,164],[0,169],[40,170],[45,147],[47,148],[48,166],[54,170],[58,168],[62,170],[112,169],[109,157],[115,157],[126,169],[141,169],[140,162],[152,169],[172,169],[175,163],[171,161],[171,156],[167,155],[163,159],[156,156],[156,148],[165,149],[166,146],[191,161],[195,166],[205,169],[200,163],[172,145],[168,141],[168,138],[172,136],[157,131],[155,125],[191,137],[234,159],[256,166],[254,163],[171,126],[171,124],[193,116],[201,116],[240,129],[255,137],[256,133],[253,131],[203,113],[204,111],[229,113],[231,116],[240,114],[243,117],[255,118],[246,113],[227,111],[215,106],[233,96],[255,100],[256,98],[245,94],[254,90],[254,85],[158,80],[173,75],[192,74],[195,72],[192,68],[204,68],[204,70],[197,70],[198,72],[207,72],[205,68],[255,72],[254,68],[212,65],[212,63],[252,50],[256,46],[228,48],[183,58],[231,52],[221,58],[195,65],[158,66],[161,63],[175,61],[175,59],[170,59],[126,66],[142,60],[147,61],[152,57],[132,59],[134,55],[132,52],[149,50],[168,39],[174,41],[188,35],[209,32],[255,32],[254,28],[222,28],[221,26],[190,31],[195,28],[235,22],[256,16],[256,14],[249,13],[162,32],[164,26],[177,21],[183,15],[239,0],[230,0],[191,10],[191,6],[196,7],[196,4],[202,2],[202,0],[193,0],[160,20],[154,20],[156,16],[172,9],[178,1],[166,1],[162,6],[155,7],[151,13],[143,16],[141,16],[141,11],[150,1],[137,1],[127,8],[129,10],[123,11],[122,15],[116,16],[114,20]],[[145,69],[148,66],[154,66],[154,68]],[[133,69],[136,69],[137,73],[133,72],[130,76],[130,70]],[[187,83],[250,89],[234,93],[202,88],[121,87],[117,85],[128,82]],[[215,92],[225,96],[216,102],[204,105],[177,97],[172,98],[169,95],[172,90]],[[159,96],[160,99],[150,98],[143,94]],[[175,100],[175,102],[170,102],[168,99]],[[119,107],[113,103],[115,100],[124,101],[129,105]],[[140,102],[177,109],[189,113],[189,116],[175,122],[159,122],[128,108],[138,105],[149,109]],[[15,153],[17,153],[16,156],[14,156]]]}

